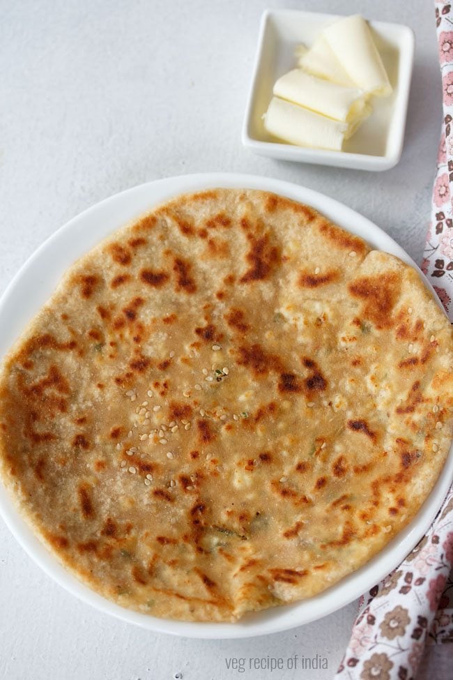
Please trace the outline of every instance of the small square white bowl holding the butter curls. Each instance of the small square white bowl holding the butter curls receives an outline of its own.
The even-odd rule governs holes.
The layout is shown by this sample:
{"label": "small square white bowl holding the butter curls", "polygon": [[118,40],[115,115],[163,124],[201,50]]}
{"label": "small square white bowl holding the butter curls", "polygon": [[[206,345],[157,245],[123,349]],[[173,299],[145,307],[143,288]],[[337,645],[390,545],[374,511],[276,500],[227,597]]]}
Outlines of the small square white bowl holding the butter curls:
{"label": "small square white bowl holding the butter curls", "polygon": [[358,170],[387,170],[397,165],[403,149],[414,57],[413,31],[401,24],[369,22],[393,93],[387,98],[371,100],[373,113],[344,143],[343,151],[277,142],[264,128],[262,116],[272,98],[275,81],[296,66],[296,45],[312,45],[320,31],[340,18],[297,10],[266,10],[263,13],[243,125],[242,141],[248,149],[260,156]]}

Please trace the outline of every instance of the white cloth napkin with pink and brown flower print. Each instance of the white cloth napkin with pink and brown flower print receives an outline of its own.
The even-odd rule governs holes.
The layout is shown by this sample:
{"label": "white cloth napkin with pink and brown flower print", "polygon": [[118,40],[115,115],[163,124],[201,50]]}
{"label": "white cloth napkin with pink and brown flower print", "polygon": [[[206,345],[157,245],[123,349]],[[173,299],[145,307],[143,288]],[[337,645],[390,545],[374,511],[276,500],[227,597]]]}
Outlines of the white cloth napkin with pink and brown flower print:
{"label": "white cloth napkin with pink and brown flower print", "polygon": [[[422,270],[453,322],[453,11],[436,3],[443,126]],[[361,599],[335,680],[453,679],[453,485],[422,541]],[[450,644],[449,644],[450,643]]]}

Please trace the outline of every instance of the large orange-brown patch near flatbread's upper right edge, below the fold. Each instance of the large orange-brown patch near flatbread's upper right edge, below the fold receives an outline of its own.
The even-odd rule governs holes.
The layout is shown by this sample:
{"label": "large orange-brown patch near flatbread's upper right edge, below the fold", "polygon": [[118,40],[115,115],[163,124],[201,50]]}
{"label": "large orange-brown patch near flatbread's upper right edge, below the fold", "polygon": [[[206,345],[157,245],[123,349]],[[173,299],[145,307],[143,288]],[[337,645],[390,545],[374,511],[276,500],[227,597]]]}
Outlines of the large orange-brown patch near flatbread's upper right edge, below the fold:
{"label": "large orange-brown patch near flatbread's upper right edge, below the fold", "polygon": [[379,330],[392,328],[392,312],[401,290],[401,276],[397,272],[386,272],[378,276],[362,276],[348,285],[353,297],[360,299],[362,316],[371,321]]}

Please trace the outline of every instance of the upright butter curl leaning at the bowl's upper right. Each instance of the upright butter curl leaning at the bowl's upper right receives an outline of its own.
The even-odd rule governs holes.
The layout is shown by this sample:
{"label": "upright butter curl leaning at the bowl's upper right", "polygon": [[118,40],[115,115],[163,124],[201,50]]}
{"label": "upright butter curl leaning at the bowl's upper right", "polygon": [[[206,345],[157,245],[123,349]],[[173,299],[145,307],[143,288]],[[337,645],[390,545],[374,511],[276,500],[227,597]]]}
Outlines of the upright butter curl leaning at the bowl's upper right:
{"label": "upright butter curl leaning at the bowl's upper right", "polygon": [[345,17],[325,29],[323,36],[348,77],[360,89],[381,97],[392,93],[381,55],[363,17]]}

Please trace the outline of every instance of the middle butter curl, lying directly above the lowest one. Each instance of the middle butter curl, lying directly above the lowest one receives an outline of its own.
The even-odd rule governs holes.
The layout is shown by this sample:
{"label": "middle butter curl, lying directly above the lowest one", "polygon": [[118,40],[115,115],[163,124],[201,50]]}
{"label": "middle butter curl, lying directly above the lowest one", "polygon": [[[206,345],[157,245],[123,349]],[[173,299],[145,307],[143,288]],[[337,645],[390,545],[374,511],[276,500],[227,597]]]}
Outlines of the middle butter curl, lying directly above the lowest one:
{"label": "middle butter curl, lying directly above the lowest one", "polygon": [[344,121],[349,128],[356,128],[371,113],[361,90],[321,80],[300,68],[279,78],[273,92],[277,97]]}

